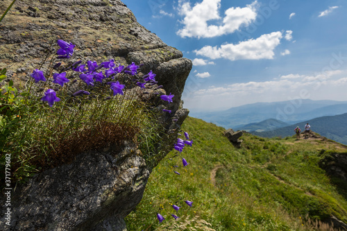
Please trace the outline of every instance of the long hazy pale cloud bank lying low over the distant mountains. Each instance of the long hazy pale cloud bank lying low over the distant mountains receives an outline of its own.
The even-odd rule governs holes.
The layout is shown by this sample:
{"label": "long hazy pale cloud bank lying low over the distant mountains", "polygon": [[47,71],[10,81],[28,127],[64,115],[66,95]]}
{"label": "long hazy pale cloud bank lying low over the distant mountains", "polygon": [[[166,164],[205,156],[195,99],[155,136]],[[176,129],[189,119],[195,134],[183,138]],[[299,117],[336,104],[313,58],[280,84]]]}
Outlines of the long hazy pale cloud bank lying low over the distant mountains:
{"label": "long hazy pale cloud bank lying low over the distant mountains", "polygon": [[[278,79],[209,86],[185,95],[185,106],[192,110],[226,110],[256,102],[290,99],[346,100],[347,71],[335,70],[312,75],[288,74]],[[304,92],[304,94],[303,94]]]}

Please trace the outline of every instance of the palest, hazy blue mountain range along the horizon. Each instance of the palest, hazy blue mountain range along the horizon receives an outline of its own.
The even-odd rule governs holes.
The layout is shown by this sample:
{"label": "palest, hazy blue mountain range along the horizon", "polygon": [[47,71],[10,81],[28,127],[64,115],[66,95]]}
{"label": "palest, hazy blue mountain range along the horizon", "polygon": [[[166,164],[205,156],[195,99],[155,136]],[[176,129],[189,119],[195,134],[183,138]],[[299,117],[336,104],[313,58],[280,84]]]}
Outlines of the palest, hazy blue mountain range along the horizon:
{"label": "palest, hazy blue mountain range along the horizon", "polygon": [[[317,117],[333,116],[347,112],[347,101],[312,101],[295,99],[273,103],[253,103],[219,112],[191,112],[190,116],[215,123],[224,128],[236,129],[249,123],[297,123]],[[253,125],[256,126],[256,125]],[[272,125],[271,125],[272,126]],[[276,128],[276,126],[275,126]],[[262,128],[259,128],[262,129]]]}

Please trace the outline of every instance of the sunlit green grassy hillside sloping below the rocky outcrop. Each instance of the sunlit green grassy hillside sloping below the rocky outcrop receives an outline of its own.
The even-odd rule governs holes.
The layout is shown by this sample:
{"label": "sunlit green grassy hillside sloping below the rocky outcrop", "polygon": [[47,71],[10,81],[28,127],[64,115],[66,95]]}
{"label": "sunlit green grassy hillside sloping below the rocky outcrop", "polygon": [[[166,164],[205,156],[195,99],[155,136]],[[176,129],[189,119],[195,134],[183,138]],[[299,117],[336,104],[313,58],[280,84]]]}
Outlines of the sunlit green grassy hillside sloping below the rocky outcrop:
{"label": "sunlit green grassy hillside sloping below the rocky outcrop", "polygon": [[171,151],[153,169],[144,198],[126,217],[128,230],[329,230],[322,222],[332,215],[347,223],[346,184],[333,185],[318,166],[346,146],[244,134],[237,149],[224,128],[192,117],[182,130],[194,145]]}

